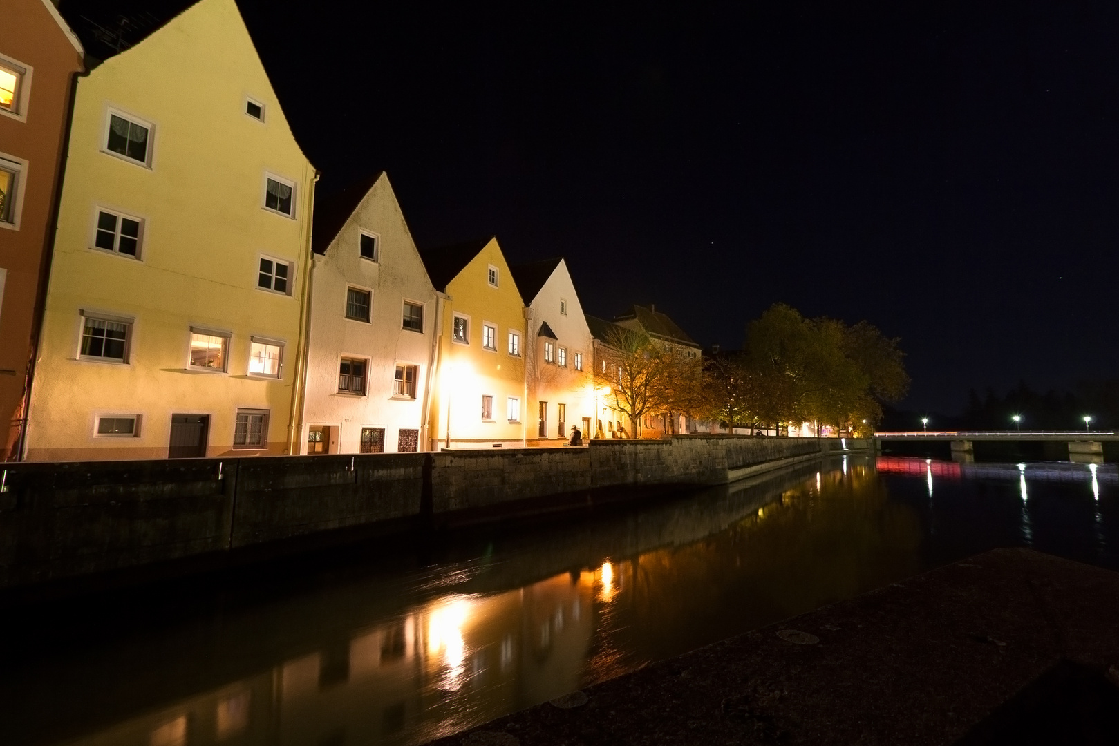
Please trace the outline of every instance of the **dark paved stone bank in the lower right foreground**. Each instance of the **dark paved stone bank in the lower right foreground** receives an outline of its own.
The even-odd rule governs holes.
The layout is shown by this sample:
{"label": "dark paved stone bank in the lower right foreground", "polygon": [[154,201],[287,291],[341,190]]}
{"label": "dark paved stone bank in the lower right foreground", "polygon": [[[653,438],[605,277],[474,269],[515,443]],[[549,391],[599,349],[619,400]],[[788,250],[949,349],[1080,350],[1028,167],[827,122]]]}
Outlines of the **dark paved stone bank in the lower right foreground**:
{"label": "dark paved stone bank in the lower right foreground", "polygon": [[1119,679],[1119,573],[997,549],[434,743],[952,744],[1062,661]]}

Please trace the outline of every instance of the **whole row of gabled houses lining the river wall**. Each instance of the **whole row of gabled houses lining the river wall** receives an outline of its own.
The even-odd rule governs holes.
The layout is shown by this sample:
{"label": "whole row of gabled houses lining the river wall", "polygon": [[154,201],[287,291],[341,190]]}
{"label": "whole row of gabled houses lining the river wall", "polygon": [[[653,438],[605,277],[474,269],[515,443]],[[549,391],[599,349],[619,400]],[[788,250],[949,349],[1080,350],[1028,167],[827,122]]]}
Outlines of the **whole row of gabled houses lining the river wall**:
{"label": "whole row of gabled houses lining the river wall", "polygon": [[622,416],[593,371],[611,324],[699,352],[651,308],[584,315],[562,258],[510,267],[496,238],[417,251],[384,173],[317,200],[234,0],[87,72],[48,0],[4,16],[8,459],[609,437]]}

